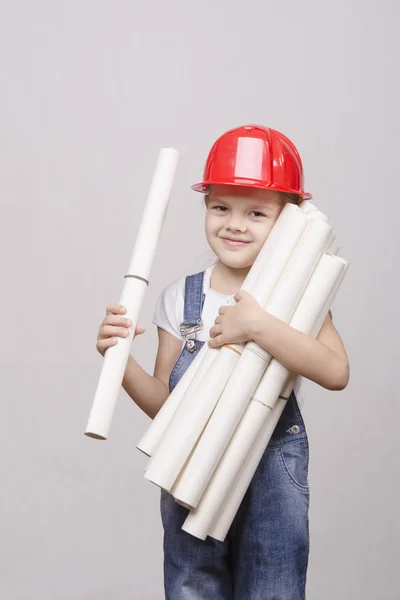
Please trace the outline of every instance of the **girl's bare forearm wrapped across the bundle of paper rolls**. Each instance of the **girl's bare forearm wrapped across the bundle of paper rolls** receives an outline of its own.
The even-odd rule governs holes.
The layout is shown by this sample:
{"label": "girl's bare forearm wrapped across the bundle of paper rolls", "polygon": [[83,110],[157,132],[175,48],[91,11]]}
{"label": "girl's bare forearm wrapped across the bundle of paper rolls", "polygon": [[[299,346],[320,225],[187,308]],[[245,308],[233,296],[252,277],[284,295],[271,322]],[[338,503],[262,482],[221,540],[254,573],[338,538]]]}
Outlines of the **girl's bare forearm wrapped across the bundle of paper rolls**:
{"label": "girl's bare forearm wrapped across the bundle of paper rolls", "polygon": [[329,346],[265,313],[252,323],[251,339],[292,373],[329,390],[346,386],[346,364]]}

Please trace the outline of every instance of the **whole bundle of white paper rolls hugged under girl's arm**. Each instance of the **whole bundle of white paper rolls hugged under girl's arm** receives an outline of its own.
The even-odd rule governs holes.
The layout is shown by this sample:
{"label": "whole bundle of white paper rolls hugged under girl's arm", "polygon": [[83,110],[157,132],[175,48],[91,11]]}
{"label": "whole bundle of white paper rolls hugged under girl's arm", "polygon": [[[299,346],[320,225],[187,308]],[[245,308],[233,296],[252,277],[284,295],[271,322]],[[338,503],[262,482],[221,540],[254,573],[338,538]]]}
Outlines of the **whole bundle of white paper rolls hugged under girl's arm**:
{"label": "whole bundle of white paper rolls hugged under girl's arm", "polygon": [[[303,218],[301,225],[299,213]],[[286,216],[286,222],[283,220],[285,215],[291,217]],[[295,326],[296,318],[299,319],[302,314],[301,311],[298,312],[299,307],[306,306],[304,301],[300,304],[300,299],[307,298],[305,290],[312,292],[312,289],[318,289],[315,285],[313,288],[311,283],[318,281],[318,277],[321,279],[327,263],[331,265],[330,277],[334,272],[337,275],[336,284],[340,279],[339,264],[339,271],[343,276],[347,263],[337,257],[333,263],[330,260],[332,257],[328,254],[338,251],[335,235],[325,215],[312,203],[304,202],[300,209],[287,205],[281,217],[280,230],[277,227],[278,219],[268,238],[269,249],[267,240],[243,289],[247,287],[246,291],[252,293],[268,312]],[[296,227],[297,233],[294,235]],[[276,233],[275,237],[273,233]],[[288,238],[291,238],[290,250]],[[324,289],[327,289],[326,281]],[[308,298],[313,295],[311,292],[308,292]],[[331,289],[330,303],[333,296]],[[321,304],[321,296],[318,301]],[[318,317],[321,321],[321,316],[326,316],[330,303],[325,298],[324,309],[318,315],[315,302],[316,300],[311,313],[314,335],[317,335],[319,329],[316,331],[315,323]],[[310,308],[308,310],[310,315]],[[302,329],[301,319],[298,322],[300,325],[297,328],[307,331],[307,328]],[[323,320],[319,328],[322,322]],[[140,450],[152,456],[146,478],[170,491],[179,503],[192,508],[184,529],[201,539],[206,535],[222,539],[226,535],[225,529],[229,528],[262,456],[260,448],[265,450],[283,410],[285,401],[277,400],[279,392],[275,394],[275,390],[282,392],[286,384],[287,394],[290,395],[297,377],[288,373],[275,359],[266,370],[271,357],[255,344],[235,345],[233,350],[236,352],[232,352],[232,347],[211,350],[205,344],[138,444]],[[245,366],[244,375],[240,374],[241,364]],[[248,377],[249,369],[253,373],[251,378]],[[262,401],[260,396],[263,397],[265,386],[269,390],[269,396]],[[253,408],[255,405],[256,408]],[[255,415],[257,416],[253,422]],[[261,416],[263,418],[260,419]],[[259,426],[260,421],[263,427]],[[226,423],[226,427],[222,428],[222,435],[221,423]],[[248,432],[254,424],[258,424],[258,429],[257,435],[253,432],[252,437]],[[243,432],[247,432],[243,438],[247,445],[240,442],[239,434],[243,435]],[[236,445],[233,443],[235,439],[239,440]],[[260,458],[257,459],[258,455]],[[232,457],[235,456],[240,458],[234,458],[232,462]],[[228,468],[221,471],[224,464]],[[218,477],[221,473],[222,477]],[[233,477],[238,477],[235,493],[231,489],[227,495],[233,473]],[[220,482],[216,485],[214,482],[218,480]],[[196,505],[197,509],[194,509]],[[207,518],[204,519],[205,514]]]}

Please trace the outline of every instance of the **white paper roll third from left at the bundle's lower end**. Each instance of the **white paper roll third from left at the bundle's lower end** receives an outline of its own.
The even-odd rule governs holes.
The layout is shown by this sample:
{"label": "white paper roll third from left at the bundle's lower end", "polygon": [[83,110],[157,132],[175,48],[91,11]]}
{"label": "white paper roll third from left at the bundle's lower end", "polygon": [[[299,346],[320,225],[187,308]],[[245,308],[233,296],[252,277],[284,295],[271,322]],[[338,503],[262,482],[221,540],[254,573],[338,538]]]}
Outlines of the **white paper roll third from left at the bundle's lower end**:
{"label": "white paper roll third from left at the bundle's lower end", "polygon": [[[322,253],[330,245],[331,234],[332,227],[322,219],[307,223],[267,302],[268,313],[286,323],[291,320]],[[198,505],[271,358],[254,342],[246,344],[179,484],[171,490],[174,498],[192,507]]]}

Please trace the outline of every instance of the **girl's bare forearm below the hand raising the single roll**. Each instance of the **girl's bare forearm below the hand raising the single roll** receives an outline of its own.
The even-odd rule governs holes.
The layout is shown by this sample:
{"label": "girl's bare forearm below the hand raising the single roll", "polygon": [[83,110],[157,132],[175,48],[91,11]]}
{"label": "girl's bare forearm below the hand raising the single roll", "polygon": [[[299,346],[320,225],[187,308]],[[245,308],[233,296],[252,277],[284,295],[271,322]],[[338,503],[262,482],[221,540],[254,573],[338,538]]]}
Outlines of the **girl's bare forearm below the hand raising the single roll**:
{"label": "girl's bare forearm below the hand raising the single roll", "polygon": [[154,419],[169,395],[165,383],[152,377],[129,355],[122,387],[132,400]]}

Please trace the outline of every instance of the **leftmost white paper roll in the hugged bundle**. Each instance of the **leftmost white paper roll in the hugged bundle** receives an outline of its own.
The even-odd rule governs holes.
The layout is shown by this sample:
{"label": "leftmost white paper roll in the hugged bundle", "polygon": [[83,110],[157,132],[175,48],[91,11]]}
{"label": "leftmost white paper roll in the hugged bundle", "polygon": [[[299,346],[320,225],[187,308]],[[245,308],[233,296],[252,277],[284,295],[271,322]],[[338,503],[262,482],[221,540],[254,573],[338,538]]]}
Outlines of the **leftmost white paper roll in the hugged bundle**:
{"label": "leftmost white paper roll in the hugged bundle", "polygon": [[[257,258],[254,261],[250,271],[248,272],[242,284],[242,290],[247,292],[252,291],[254,284],[256,283],[260,273],[264,269],[265,263],[268,262],[274,256],[274,248],[282,239],[282,236],[285,235],[285,231],[287,231],[288,225],[291,222],[293,222],[294,215],[299,212],[301,211],[297,206],[293,204],[285,205],[274,227],[272,228],[267,240],[265,241],[263,247],[258,253]],[[234,300],[232,300],[232,304],[235,304]],[[241,351],[240,346],[236,347],[235,349],[238,352]],[[138,450],[140,450],[144,454],[147,454],[148,456],[153,456],[157,444],[159,443],[166,429],[168,428],[171,419],[175,414],[175,411],[181,403],[182,399],[186,396],[186,401],[191,400],[191,397],[193,396],[195,387],[197,385],[197,380],[193,381],[194,373],[200,367],[200,363],[202,362],[204,356],[206,354],[208,355],[208,362],[206,364],[209,367],[212,364],[213,360],[216,358],[218,352],[219,350],[212,349],[208,346],[208,344],[204,344],[201,352],[199,352],[199,354],[192,361],[190,367],[188,368],[189,374],[187,376],[185,376],[185,374],[182,377],[182,379],[178,382],[172,393],[169,395],[169,397],[163,404],[162,408],[159,410],[159,412],[153,419],[145,435],[142,437],[139,444],[137,445]],[[150,464],[147,465],[147,471],[149,470],[149,466]]]}

